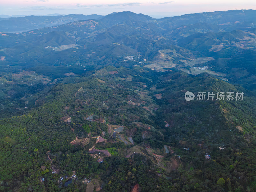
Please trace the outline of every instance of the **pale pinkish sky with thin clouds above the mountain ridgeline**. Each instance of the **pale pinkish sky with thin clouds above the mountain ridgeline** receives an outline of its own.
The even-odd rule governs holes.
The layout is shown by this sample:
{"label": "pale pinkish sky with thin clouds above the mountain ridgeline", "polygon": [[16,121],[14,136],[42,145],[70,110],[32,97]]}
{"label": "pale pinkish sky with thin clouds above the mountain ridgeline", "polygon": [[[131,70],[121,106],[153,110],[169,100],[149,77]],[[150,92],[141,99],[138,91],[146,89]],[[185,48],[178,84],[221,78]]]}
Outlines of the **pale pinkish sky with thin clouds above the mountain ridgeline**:
{"label": "pale pinkish sky with thin clouds above the mountain ridgeline", "polygon": [[99,14],[131,11],[160,18],[189,13],[256,9],[255,0],[0,0],[0,15]]}

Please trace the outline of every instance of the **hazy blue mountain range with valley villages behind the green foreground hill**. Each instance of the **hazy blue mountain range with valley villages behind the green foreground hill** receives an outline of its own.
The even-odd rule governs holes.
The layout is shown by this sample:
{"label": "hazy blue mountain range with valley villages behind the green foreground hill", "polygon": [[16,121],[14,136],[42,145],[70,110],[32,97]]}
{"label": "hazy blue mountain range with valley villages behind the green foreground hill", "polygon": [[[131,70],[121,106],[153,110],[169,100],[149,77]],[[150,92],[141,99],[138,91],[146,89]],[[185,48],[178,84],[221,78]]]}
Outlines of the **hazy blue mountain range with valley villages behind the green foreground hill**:
{"label": "hazy blue mountain range with valley villages behind the green foreground hill", "polygon": [[[22,33],[4,33],[0,28],[3,31],[0,54],[5,57],[1,64],[22,63],[22,67],[37,72],[43,72],[44,65],[50,68],[70,66],[68,70],[82,72],[88,70],[88,63],[93,68],[109,63],[119,65],[126,56],[133,56],[136,61],[132,62],[149,68],[156,64],[154,68],[159,71],[174,67],[196,75],[203,72],[197,67],[208,66],[210,74],[254,90],[254,16],[255,10],[233,10],[162,19],[132,12],[104,17],[9,18],[0,21],[0,25],[2,22],[2,26],[7,26],[12,20],[16,25],[26,22],[28,25],[20,25],[23,29],[32,28],[31,23],[37,23],[36,28],[44,27]],[[73,20],[80,21],[69,22]],[[61,23],[65,24],[58,25]],[[60,62],[63,53],[65,61]]]}

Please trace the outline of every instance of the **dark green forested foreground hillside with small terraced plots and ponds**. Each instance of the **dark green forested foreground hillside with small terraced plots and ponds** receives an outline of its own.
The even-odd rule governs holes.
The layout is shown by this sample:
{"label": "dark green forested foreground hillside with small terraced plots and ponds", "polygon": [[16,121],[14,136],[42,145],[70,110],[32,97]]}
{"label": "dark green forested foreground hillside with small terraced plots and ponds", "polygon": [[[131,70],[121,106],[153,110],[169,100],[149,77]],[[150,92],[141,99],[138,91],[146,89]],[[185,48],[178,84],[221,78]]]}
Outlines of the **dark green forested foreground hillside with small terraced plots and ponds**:
{"label": "dark green forested foreground hillside with small terraced plots and ponds", "polygon": [[[244,98],[185,102],[186,91]],[[205,73],[109,66],[71,76],[1,119],[1,190],[255,190],[254,117],[253,92]]]}

